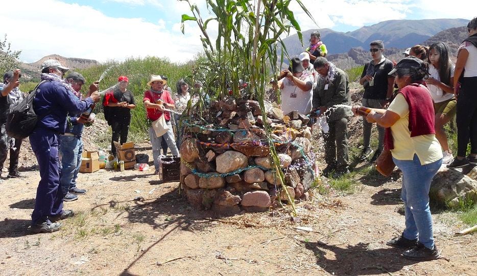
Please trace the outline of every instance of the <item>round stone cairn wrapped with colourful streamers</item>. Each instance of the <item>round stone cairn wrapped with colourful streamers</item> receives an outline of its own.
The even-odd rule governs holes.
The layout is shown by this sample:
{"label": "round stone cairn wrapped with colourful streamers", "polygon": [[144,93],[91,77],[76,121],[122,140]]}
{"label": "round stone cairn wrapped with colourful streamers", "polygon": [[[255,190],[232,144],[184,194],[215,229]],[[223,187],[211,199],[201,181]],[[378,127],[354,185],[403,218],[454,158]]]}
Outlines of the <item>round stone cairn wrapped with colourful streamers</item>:
{"label": "round stone cairn wrapped with colourful streamers", "polygon": [[272,170],[263,122],[273,134],[285,187],[291,198],[307,200],[315,179],[309,118],[283,114],[266,102],[263,118],[257,101],[225,98],[211,101],[201,116],[193,112],[180,146],[181,188],[195,208],[221,214],[261,212],[288,201]]}

